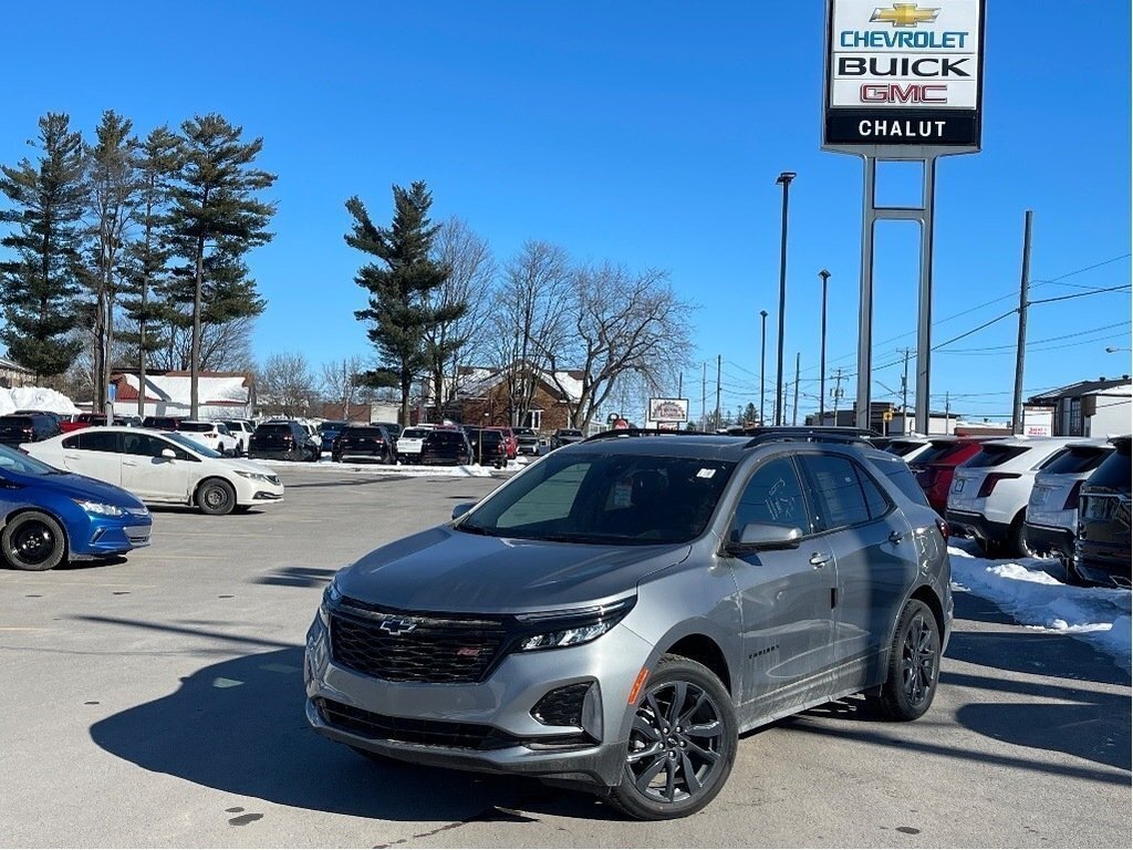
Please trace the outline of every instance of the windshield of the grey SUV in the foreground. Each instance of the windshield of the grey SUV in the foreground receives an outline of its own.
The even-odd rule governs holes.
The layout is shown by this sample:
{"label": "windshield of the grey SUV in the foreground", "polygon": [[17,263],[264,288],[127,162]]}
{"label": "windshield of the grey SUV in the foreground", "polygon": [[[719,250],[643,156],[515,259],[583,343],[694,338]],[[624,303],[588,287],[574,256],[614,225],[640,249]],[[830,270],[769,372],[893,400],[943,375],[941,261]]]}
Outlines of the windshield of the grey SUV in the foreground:
{"label": "windshield of the grey SUV in the foreground", "polygon": [[550,454],[457,528],[565,543],[687,543],[708,525],[734,468],[695,458]]}

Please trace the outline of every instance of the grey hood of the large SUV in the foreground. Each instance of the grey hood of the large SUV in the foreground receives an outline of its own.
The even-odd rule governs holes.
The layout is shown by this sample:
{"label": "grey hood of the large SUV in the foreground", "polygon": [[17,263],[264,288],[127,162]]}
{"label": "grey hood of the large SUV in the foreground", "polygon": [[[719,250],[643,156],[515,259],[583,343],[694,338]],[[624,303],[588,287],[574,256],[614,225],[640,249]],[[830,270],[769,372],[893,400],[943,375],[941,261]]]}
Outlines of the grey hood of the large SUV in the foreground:
{"label": "grey hood of the large SUV in the foreground", "polygon": [[346,596],[404,611],[548,611],[625,595],[689,550],[484,537],[437,526],[370,552],[337,581]]}

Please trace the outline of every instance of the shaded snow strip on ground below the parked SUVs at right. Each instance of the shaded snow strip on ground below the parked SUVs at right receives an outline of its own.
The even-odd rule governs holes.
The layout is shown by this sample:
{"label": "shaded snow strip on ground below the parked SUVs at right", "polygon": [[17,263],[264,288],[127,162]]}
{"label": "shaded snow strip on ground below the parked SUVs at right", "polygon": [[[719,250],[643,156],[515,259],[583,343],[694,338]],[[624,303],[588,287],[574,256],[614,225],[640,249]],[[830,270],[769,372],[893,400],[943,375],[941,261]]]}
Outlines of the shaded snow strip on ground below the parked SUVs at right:
{"label": "shaded snow strip on ground below the parked SUVs at right", "polygon": [[972,544],[952,541],[952,588],[996,603],[1023,626],[1088,640],[1131,670],[1130,592],[1063,584],[1057,561],[1037,558],[989,560]]}

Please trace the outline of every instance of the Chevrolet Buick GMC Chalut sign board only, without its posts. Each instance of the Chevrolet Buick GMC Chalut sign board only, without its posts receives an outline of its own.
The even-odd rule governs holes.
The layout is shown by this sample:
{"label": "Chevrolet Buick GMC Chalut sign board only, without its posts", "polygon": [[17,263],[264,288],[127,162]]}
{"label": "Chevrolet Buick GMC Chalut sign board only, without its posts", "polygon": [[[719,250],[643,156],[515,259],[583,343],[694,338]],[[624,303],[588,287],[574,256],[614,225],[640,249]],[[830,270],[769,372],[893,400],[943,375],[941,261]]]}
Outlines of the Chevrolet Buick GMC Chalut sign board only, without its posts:
{"label": "Chevrolet Buick GMC Chalut sign board only, without its posts", "polygon": [[982,0],[828,0],[823,147],[980,150]]}

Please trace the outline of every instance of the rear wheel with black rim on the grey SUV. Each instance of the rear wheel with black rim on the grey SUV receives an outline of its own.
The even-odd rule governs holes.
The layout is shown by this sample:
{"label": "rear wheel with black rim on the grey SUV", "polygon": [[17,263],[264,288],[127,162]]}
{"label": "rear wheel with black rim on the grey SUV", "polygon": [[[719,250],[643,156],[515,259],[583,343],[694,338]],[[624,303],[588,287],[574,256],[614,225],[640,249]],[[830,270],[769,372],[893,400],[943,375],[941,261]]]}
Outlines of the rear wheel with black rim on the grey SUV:
{"label": "rear wheel with black rim on the grey SUV", "polygon": [[888,675],[872,699],[885,720],[917,720],[936,696],[940,679],[940,627],[920,600],[909,600],[889,646]]}

